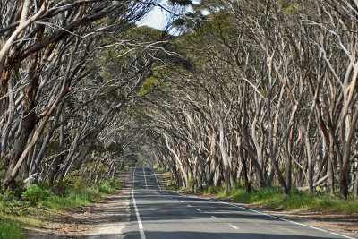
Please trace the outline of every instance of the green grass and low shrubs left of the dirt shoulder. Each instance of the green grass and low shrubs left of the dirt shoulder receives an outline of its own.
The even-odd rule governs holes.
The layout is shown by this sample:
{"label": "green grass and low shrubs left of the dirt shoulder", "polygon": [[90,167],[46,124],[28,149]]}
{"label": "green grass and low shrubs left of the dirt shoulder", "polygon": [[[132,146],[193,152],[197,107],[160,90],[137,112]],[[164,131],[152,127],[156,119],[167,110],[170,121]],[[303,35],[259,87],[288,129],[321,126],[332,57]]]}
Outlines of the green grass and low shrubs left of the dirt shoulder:
{"label": "green grass and low shrubs left of the dirt shoulder", "polygon": [[7,193],[0,197],[0,239],[24,238],[25,228],[40,226],[44,219],[51,218],[56,212],[89,205],[118,189],[122,189],[118,180],[81,188],[70,185],[62,195],[50,192],[45,200],[37,201],[36,205]]}

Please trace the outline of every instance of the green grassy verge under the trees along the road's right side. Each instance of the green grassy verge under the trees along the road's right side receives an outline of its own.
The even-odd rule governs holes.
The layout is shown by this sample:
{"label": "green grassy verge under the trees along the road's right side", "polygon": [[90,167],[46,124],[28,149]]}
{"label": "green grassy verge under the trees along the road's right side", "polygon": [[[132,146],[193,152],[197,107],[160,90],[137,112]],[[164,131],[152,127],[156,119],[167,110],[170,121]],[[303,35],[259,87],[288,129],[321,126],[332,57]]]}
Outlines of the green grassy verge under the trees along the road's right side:
{"label": "green grassy verge under the trees along the road's right side", "polygon": [[[155,167],[160,173],[166,176],[166,189],[178,192],[193,192],[192,179],[189,180],[190,187],[176,188],[175,181],[171,179],[169,171],[165,167]],[[329,195],[328,192],[321,192],[324,188],[317,187],[315,193],[304,192],[292,189],[289,195],[282,192],[280,187],[266,187],[261,190],[253,189],[251,192],[245,191],[243,181],[235,181],[231,188],[230,194],[226,194],[226,185],[210,185],[202,188],[199,187],[198,192],[217,200],[229,200],[241,202],[245,204],[261,205],[273,209],[286,209],[295,212],[311,210],[317,212],[338,212],[345,214],[358,214],[358,201],[354,199],[342,199],[340,195]]]}

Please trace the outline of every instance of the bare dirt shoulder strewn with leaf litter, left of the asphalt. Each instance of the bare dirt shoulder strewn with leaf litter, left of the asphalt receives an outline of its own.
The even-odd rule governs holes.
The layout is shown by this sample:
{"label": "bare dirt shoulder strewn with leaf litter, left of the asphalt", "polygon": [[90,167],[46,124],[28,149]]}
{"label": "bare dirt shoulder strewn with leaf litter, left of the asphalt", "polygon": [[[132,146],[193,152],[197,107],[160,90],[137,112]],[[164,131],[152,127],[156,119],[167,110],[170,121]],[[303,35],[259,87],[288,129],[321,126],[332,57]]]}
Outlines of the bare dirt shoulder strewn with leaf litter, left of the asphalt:
{"label": "bare dirt shoulder strewn with leaf litter, left of the asphalt", "polygon": [[[30,228],[29,238],[103,238],[119,236],[130,217],[131,172],[119,175],[124,189],[89,206],[66,209],[47,219],[43,226]],[[106,229],[103,229],[106,228]]]}

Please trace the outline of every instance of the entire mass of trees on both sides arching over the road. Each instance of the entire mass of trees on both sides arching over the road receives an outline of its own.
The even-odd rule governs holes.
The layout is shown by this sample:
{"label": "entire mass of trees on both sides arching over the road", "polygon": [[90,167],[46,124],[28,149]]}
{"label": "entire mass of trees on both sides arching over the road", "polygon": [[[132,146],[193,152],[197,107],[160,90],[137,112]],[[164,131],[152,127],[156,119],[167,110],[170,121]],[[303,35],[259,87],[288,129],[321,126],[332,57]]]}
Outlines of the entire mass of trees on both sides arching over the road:
{"label": "entire mass of trees on both sides arching over the road", "polygon": [[1,184],[137,154],[177,187],[355,198],[358,5],[168,3],[179,36],[136,25],[155,0],[0,4]]}

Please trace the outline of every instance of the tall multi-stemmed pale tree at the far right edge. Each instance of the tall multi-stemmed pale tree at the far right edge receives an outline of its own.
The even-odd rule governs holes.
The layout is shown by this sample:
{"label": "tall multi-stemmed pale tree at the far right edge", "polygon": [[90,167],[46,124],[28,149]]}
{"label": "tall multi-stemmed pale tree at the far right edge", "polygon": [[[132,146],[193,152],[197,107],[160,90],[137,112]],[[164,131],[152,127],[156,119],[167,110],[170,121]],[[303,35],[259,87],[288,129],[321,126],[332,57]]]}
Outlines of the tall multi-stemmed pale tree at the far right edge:
{"label": "tall multi-stemmed pale tree at the far right edge", "polygon": [[[332,190],[335,178],[342,195],[348,196],[349,175],[353,172],[354,147],[357,142],[357,95],[358,75],[356,35],[358,4],[351,1],[316,1],[318,19],[307,20],[313,23],[320,38],[312,38],[319,51],[319,59],[324,65],[320,86],[319,107],[324,112],[324,122],[320,131],[324,135],[329,152],[329,170]],[[327,92],[328,94],[324,94]],[[355,136],[354,136],[355,135]],[[352,182],[354,184],[354,182]]]}

